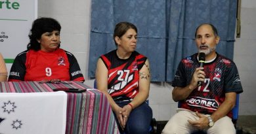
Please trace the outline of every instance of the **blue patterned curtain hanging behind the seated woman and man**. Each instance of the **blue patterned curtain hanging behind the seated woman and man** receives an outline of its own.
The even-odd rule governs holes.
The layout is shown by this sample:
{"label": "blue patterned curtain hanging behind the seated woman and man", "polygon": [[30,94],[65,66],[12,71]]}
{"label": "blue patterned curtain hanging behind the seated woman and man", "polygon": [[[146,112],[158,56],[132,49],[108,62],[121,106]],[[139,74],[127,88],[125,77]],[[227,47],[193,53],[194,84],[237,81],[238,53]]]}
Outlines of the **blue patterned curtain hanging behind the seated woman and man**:
{"label": "blue patterned curtain hanging behind the seated woman and man", "polygon": [[181,58],[197,52],[202,23],[217,27],[217,52],[233,57],[236,0],[92,0],[89,77],[99,56],[116,49],[114,27],[124,21],[138,28],[137,51],[148,57],[153,82],[171,82]]}

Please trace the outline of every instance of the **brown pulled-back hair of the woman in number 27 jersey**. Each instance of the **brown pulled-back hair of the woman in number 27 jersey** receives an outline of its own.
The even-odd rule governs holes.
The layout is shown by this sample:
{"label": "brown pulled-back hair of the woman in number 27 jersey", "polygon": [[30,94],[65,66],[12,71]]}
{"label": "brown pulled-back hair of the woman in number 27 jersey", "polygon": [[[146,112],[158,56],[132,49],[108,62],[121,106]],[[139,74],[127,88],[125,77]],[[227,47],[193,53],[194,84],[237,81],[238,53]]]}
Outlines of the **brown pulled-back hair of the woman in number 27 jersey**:
{"label": "brown pulled-back hair of the woman in number 27 jersey", "polygon": [[[119,37],[121,38],[126,31],[128,31],[128,29],[134,29],[137,32],[137,27],[129,22],[119,22],[118,24],[116,24],[116,27],[114,29],[114,35],[113,35],[113,39],[116,43],[115,37]],[[116,44],[117,45],[117,44]]]}

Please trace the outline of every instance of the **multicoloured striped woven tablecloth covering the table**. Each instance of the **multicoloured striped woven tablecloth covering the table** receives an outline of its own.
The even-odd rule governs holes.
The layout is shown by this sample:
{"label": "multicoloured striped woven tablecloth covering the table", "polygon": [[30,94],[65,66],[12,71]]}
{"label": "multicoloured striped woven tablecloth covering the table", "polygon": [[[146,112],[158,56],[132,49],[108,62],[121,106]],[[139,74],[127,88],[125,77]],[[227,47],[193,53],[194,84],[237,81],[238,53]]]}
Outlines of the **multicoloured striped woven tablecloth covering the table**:
{"label": "multicoloured striped woven tablecloth covering the table", "polygon": [[68,93],[66,134],[119,133],[114,114],[106,96],[81,82],[1,82],[0,92],[53,92],[56,88],[87,89],[83,93]]}

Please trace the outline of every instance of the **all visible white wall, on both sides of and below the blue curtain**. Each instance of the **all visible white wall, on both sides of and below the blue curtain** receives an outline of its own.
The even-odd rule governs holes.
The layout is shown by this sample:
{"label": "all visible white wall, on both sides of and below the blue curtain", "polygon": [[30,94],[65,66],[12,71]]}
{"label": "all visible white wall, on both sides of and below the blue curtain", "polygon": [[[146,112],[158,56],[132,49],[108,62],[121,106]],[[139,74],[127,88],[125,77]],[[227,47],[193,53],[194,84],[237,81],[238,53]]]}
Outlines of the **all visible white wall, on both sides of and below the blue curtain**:
{"label": "all visible white wall, on both sides of and below the blue curtain", "polygon": [[[234,44],[234,61],[238,66],[244,93],[240,97],[240,115],[255,114],[256,90],[256,1],[242,1],[242,33]],[[61,47],[72,52],[77,58],[85,84],[93,87],[88,80],[89,33],[91,0],[38,0],[38,16],[56,18],[62,25]],[[172,87],[165,82],[151,84],[150,107],[156,120],[169,120],[177,109],[171,98]]]}

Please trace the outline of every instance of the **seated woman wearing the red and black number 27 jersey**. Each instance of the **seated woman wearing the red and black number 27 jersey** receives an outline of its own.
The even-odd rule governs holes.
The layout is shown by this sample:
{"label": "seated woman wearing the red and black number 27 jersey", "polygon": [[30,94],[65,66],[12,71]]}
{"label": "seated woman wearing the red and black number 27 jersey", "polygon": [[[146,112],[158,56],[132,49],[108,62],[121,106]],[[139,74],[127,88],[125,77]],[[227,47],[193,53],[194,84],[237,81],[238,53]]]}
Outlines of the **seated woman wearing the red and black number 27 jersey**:
{"label": "seated woman wearing the red and black number 27 jersey", "polygon": [[145,103],[150,90],[148,59],[135,51],[137,27],[120,22],[114,30],[117,49],[100,56],[98,90],[106,94],[121,133],[149,133],[152,109]]}

